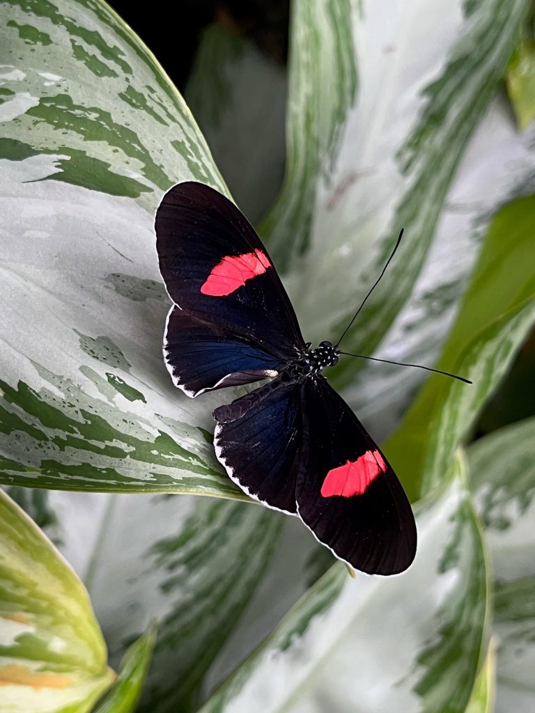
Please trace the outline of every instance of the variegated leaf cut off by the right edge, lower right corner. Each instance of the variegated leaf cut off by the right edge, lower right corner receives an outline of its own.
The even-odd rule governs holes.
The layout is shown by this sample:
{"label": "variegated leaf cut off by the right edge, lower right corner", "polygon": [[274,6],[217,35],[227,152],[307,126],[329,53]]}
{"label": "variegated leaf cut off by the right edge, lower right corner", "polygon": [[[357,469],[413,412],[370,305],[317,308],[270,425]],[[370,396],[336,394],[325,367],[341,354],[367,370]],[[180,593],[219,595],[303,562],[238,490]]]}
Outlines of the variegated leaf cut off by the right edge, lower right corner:
{"label": "variegated leaf cut off by the right edge, lower right corner", "polygon": [[496,712],[535,707],[535,419],[469,449],[474,498],[494,570]]}

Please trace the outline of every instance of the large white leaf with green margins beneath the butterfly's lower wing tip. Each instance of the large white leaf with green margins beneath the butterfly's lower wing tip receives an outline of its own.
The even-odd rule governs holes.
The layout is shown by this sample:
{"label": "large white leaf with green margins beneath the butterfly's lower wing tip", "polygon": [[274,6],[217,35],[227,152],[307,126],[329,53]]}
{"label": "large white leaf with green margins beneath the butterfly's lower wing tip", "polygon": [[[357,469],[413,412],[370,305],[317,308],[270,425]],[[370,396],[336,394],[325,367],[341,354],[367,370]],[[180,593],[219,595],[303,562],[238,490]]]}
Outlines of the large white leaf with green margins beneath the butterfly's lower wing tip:
{"label": "large white leaf with green margins beneath the butterfly's lower wing tip", "polygon": [[464,712],[486,645],[488,602],[461,461],[447,491],[420,511],[418,528],[407,573],[352,580],[335,565],[201,711],[241,713],[261,700],[265,713]]}

